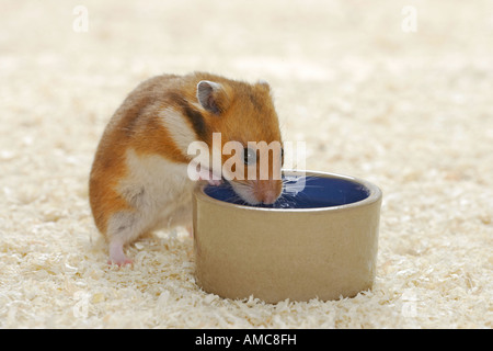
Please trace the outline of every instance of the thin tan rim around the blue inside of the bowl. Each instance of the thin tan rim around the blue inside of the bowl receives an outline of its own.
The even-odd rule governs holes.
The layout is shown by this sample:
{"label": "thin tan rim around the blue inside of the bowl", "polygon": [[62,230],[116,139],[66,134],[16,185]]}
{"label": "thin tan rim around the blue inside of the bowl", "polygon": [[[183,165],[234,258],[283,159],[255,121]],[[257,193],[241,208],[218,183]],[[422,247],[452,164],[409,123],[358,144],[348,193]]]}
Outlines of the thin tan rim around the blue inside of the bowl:
{"label": "thin tan rim around the blue inside of the bowl", "polygon": [[317,177],[324,177],[324,178],[335,178],[335,179],[343,179],[353,183],[357,183],[359,185],[365,186],[369,194],[367,197],[352,202],[344,205],[339,206],[325,206],[325,207],[312,207],[312,208],[271,208],[271,207],[255,207],[255,206],[249,206],[249,205],[239,205],[239,204],[232,204],[222,200],[214,199],[209,195],[207,195],[204,192],[204,189],[208,185],[206,181],[200,182],[197,186],[194,189],[194,196],[197,199],[197,201],[207,202],[217,206],[223,206],[223,207],[233,207],[238,208],[239,211],[254,211],[254,212],[275,212],[275,213],[316,213],[316,212],[340,212],[340,211],[346,211],[355,207],[363,207],[370,205],[372,203],[376,203],[381,200],[382,192],[380,188],[375,185],[374,183],[352,177],[352,176],[345,176],[345,174],[339,174],[339,173],[331,173],[331,172],[323,172],[323,171],[313,171],[313,170],[296,170],[296,169],[283,169],[283,173],[291,173],[291,174],[299,174],[302,173],[305,176],[317,176]]}

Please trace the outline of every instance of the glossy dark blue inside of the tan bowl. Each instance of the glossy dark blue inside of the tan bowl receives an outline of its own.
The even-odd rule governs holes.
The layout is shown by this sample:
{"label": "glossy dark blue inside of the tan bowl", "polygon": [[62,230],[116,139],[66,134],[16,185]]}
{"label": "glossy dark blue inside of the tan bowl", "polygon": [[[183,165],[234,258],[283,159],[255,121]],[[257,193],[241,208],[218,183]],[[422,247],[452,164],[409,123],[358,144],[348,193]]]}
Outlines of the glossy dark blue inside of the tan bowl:
{"label": "glossy dark blue inside of the tan bowl", "polygon": [[317,176],[283,176],[283,194],[272,205],[250,205],[241,200],[232,186],[207,185],[204,192],[213,199],[237,205],[265,208],[320,208],[352,204],[369,196],[369,190],[351,180]]}

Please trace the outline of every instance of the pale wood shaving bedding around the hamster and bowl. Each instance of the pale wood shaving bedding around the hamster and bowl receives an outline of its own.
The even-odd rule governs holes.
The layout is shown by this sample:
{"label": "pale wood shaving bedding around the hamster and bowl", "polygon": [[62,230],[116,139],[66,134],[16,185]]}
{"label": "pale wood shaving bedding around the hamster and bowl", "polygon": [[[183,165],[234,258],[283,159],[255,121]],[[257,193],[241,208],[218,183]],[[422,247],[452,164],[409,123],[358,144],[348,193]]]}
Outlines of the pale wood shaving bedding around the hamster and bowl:
{"label": "pale wood shaving bedding around the hamster and bowl", "polygon": [[[87,33],[76,2],[3,4],[0,328],[492,328],[491,1],[416,2],[414,34],[408,3],[84,3]],[[308,169],[382,189],[371,291],[223,299],[195,284],[183,230],[106,264],[87,189],[104,125],[137,82],[195,69],[268,80]]]}

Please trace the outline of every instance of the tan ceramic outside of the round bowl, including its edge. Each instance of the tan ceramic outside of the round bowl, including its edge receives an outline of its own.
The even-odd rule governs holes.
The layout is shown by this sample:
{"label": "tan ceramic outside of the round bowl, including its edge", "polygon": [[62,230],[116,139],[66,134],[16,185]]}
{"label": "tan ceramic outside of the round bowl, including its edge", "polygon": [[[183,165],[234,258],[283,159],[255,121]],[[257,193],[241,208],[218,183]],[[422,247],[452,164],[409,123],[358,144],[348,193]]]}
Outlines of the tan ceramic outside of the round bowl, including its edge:
{"label": "tan ceramic outside of the round bowl, including its edge", "polygon": [[[289,172],[287,172],[289,173]],[[290,172],[296,173],[296,172]],[[259,208],[194,192],[196,281],[228,298],[250,295],[267,303],[353,297],[371,287],[377,262],[381,191],[334,207]]]}

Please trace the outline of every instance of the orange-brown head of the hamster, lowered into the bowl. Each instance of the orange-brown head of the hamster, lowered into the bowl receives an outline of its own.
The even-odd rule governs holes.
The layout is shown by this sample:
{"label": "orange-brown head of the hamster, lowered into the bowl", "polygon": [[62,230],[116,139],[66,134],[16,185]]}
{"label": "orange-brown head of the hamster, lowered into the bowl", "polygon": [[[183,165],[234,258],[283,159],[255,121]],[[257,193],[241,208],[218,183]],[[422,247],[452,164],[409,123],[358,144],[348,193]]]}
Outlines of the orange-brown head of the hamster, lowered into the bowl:
{"label": "orange-brown head of the hamster, lowered into the bowl", "polygon": [[284,155],[268,83],[203,80],[197,100],[209,112],[210,156],[221,156],[222,178],[249,204],[275,203],[283,191]]}

